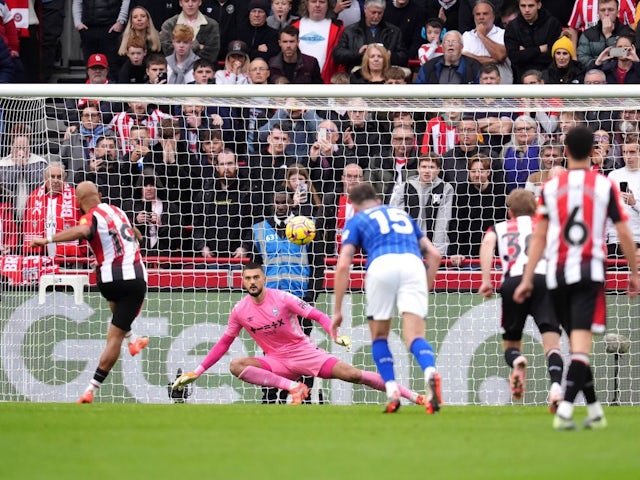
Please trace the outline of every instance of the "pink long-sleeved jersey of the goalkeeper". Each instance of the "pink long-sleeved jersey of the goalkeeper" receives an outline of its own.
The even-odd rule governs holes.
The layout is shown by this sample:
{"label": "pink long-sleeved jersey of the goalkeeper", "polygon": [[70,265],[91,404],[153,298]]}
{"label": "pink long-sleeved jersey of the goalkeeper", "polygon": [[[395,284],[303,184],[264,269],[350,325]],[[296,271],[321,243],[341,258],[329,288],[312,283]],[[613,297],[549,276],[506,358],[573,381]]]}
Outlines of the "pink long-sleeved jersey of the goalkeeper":
{"label": "pink long-sleeved jersey of the goalkeeper", "polygon": [[240,300],[229,315],[226,334],[237,337],[245,328],[258,346],[268,355],[290,352],[297,345],[313,345],[311,339],[302,332],[298,315],[316,319],[318,313],[325,317],[319,320],[323,328],[329,326],[329,318],[304,300],[284,292],[265,288],[264,300],[256,304],[250,295]]}

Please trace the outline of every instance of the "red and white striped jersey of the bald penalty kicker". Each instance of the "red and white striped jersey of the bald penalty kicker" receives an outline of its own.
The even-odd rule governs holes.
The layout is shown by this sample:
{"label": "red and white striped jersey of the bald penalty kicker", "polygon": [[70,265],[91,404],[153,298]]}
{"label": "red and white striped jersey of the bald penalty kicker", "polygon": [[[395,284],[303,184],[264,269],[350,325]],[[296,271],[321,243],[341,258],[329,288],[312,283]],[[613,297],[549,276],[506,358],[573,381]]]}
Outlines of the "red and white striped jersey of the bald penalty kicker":
{"label": "red and white striped jersey of the bald penalty kicker", "polygon": [[98,282],[147,280],[140,245],[122,210],[101,203],[80,218],[80,225],[91,228],[87,240],[98,262]]}

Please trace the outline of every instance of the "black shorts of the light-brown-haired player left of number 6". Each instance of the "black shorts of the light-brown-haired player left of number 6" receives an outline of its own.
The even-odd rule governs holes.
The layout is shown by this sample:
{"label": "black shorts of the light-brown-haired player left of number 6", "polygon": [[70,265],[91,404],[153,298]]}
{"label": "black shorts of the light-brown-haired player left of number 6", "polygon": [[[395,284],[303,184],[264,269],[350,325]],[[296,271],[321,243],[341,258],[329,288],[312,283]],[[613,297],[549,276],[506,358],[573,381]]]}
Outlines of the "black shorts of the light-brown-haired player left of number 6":
{"label": "black shorts of the light-brown-haired player left of number 6", "polygon": [[502,339],[522,340],[522,331],[527,316],[531,315],[540,333],[560,333],[560,325],[551,302],[544,275],[533,277],[533,293],[524,303],[513,301],[513,292],[520,285],[522,277],[507,277],[500,287],[502,295]]}

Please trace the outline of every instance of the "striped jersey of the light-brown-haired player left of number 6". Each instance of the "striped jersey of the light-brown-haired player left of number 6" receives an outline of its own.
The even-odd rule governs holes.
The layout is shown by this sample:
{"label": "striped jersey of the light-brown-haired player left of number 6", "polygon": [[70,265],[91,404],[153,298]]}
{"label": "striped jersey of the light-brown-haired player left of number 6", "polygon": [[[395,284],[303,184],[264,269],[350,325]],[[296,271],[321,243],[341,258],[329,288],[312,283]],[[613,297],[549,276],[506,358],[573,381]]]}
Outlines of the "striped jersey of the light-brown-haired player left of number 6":
{"label": "striped jersey of the light-brown-haired player left of number 6", "polygon": [[[506,277],[518,277],[524,273],[529,262],[529,240],[535,229],[535,221],[529,215],[510,218],[496,223],[493,227],[497,238],[498,256],[502,263],[502,280]],[[540,259],[535,272],[544,275],[547,261]]]}

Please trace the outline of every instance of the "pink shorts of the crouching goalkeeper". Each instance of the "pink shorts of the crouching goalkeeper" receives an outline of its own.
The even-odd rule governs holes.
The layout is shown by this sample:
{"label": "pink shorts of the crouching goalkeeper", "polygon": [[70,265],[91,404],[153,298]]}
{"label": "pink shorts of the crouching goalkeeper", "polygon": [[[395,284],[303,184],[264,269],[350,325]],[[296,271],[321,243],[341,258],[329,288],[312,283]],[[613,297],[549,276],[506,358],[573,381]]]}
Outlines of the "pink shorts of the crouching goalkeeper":
{"label": "pink shorts of the crouching goalkeeper", "polygon": [[290,350],[286,357],[265,355],[254,358],[260,362],[265,370],[290,380],[297,380],[302,375],[333,378],[331,371],[334,365],[339,362],[333,355],[311,345],[306,348]]}

